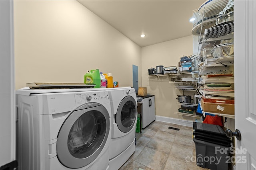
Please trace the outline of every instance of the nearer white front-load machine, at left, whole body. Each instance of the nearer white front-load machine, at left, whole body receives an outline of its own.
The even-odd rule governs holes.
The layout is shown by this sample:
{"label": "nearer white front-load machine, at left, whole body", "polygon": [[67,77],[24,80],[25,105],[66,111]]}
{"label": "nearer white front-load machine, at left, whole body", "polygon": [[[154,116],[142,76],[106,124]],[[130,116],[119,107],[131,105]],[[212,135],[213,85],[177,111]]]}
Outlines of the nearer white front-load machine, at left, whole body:
{"label": "nearer white front-load machine, at left, whole body", "polygon": [[109,169],[108,91],[66,91],[17,90],[19,169]]}

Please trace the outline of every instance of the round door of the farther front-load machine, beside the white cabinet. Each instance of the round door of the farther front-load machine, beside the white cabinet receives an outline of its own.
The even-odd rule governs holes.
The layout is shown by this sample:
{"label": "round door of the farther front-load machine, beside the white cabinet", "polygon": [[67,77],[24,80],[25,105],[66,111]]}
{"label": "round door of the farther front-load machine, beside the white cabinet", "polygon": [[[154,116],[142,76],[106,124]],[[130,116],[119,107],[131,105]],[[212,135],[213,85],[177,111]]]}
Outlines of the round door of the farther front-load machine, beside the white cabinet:
{"label": "round door of the farther front-load machine, beside the white cabinet", "polygon": [[132,96],[125,97],[118,107],[116,113],[116,124],[120,131],[129,132],[136,120],[137,104]]}

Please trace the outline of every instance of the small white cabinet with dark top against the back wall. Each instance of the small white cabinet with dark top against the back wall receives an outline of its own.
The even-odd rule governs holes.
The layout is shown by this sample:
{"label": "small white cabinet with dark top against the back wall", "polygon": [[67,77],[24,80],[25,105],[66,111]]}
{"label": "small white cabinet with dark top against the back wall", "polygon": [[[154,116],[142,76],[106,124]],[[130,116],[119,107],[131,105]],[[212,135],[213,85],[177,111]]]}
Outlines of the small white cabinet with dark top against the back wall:
{"label": "small white cabinet with dark top against the back wall", "polygon": [[155,96],[148,95],[148,96],[142,97],[142,121],[141,121],[142,129],[147,127],[155,119],[156,119]]}

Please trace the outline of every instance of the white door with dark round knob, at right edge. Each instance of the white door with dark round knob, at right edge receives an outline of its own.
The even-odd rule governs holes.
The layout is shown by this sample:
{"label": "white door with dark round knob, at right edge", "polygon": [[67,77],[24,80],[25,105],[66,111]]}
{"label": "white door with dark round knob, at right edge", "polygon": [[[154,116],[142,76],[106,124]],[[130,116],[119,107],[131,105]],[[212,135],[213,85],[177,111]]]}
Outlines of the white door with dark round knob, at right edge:
{"label": "white door with dark round knob, at right edge", "polygon": [[236,170],[256,170],[256,1],[234,1]]}

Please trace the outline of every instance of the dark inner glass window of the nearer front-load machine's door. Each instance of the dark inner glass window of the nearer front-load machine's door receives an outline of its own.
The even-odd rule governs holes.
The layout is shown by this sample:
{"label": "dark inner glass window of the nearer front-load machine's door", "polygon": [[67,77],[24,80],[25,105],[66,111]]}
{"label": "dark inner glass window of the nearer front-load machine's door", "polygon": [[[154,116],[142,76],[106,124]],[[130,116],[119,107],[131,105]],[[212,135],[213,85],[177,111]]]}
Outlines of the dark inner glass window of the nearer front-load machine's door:
{"label": "dark inner glass window of the nearer front-load machine's door", "polygon": [[98,131],[98,123],[106,127],[104,116],[98,111],[81,115],[71,127],[68,135],[68,150],[76,158],[86,158],[98,149],[106,129]]}

